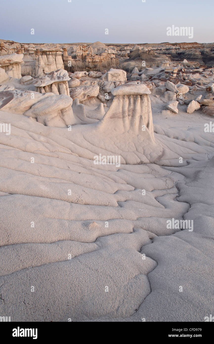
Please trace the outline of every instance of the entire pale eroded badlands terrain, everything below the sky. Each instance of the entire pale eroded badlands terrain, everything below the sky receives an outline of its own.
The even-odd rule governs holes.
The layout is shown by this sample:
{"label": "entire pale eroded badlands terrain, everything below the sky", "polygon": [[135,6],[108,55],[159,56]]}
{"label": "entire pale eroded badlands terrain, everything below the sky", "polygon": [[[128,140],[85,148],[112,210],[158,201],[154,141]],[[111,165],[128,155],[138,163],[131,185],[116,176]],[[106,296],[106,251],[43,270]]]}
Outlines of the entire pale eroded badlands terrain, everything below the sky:
{"label": "entire pale eroded badlands terrain, everything below the sky", "polygon": [[198,43],[0,40],[0,315],[212,314],[213,61]]}

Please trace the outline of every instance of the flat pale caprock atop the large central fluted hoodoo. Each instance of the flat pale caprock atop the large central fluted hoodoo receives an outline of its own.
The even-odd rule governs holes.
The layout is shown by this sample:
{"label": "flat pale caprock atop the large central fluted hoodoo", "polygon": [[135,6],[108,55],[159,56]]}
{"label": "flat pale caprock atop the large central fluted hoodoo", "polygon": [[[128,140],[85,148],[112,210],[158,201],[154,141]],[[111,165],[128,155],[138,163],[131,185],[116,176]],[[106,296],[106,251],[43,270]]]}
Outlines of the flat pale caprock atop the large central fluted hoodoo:
{"label": "flat pale caprock atop the large central fluted hoodoo", "polygon": [[143,96],[145,94],[150,94],[150,90],[145,84],[123,84],[111,90],[113,96]]}

